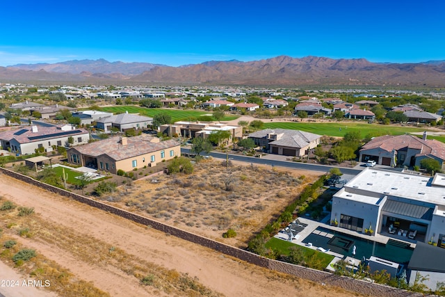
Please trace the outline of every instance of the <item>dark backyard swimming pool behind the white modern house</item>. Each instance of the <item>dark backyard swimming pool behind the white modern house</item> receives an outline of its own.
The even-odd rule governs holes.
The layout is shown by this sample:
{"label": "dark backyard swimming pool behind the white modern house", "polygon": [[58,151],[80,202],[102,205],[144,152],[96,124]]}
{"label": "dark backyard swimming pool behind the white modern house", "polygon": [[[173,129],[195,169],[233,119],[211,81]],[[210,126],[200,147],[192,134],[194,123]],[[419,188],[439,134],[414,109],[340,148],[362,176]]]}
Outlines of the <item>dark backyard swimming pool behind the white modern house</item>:
{"label": "dark backyard swimming pool behind the white modern house", "polygon": [[[369,259],[369,257],[375,256],[396,263],[410,261],[414,250],[410,248],[409,243],[389,239],[387,244],[383,244],[323,227],[317,227],[302,242],[312,243],[313,246],[320,246],[326,250],[330,249],[332,252],[344,256],[354,256],[356,259],[362,259],[363,257]],[[353,255],[354,246],[356,247],[355,255]]]}

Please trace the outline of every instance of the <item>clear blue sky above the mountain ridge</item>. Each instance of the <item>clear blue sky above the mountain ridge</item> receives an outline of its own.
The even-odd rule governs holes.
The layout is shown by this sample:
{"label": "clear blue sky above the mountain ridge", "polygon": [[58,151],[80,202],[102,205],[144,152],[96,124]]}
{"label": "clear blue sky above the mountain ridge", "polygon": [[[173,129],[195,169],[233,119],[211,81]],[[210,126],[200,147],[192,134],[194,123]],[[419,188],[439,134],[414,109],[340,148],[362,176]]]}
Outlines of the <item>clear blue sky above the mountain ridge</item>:
{"label": "clear blue sky above the mountain ridge", "polygon": [[105,58],[445,60],[445,1],[1,1],[0,66]]}

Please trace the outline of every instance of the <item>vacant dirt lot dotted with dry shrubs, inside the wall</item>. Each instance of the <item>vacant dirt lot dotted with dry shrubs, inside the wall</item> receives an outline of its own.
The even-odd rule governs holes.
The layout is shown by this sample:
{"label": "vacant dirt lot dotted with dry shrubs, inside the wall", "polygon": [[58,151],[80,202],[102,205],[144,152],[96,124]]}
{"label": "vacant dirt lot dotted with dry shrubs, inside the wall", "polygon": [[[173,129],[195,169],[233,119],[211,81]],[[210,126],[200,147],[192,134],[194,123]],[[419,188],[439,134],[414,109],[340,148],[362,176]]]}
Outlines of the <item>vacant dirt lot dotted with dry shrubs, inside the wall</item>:
{"label": "vacant dirt lot dotted with dry shrubs, inside the wall", "polygon": [[[245,246],[273,216],[281,214],[321,173],[291,171],[213,159],[195,163],[191,175],[161,175],[122,186],[101,199],[129,211],[229,243]],[[232,228],[237,236],[223,239]]]}

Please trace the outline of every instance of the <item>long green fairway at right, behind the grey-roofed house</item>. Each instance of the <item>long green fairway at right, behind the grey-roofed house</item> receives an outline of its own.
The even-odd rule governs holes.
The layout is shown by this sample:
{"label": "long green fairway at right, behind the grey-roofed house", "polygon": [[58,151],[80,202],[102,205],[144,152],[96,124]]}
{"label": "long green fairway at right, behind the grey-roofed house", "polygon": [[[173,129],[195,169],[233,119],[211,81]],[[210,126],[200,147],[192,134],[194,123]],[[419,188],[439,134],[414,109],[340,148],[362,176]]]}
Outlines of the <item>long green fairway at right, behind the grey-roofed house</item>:
{"label": "long green fairway at right, behind the grey-roofed house", "polygon": [[[268,122],[265,128],[282,128],[307,131],[314,134],[343,137],[350,131],[359,131],[364,138],[371,132],[383,132],[389,135],[401,135],[405,133],[423,132],[428,129],[416,127],[401,127],[393,125],[368,124],[362,122]],[[438,141],[445,142],[444,136],[434,136]]]}

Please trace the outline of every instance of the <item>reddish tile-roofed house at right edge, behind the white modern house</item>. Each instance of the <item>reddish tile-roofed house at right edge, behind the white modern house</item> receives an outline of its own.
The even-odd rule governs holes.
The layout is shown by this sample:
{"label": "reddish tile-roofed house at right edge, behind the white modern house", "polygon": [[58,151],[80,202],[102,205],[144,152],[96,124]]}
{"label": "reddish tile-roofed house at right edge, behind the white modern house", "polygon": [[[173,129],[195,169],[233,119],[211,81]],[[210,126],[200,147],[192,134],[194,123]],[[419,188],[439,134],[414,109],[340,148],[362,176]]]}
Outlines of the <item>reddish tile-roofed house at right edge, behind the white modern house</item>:
{"label": "reddish tile-roofed house at right edge, behind the white modern house", "polygon": [[362,147],[359,154],[359,160],[362,162],[371,159],[387,166],[420,167],[422,159],[430,158],[439,161],[442,170],[445,169],[445,143],[434,139],[428,140],[426,132],[423,138],[409,134],[375,137]]}

